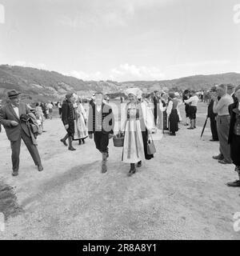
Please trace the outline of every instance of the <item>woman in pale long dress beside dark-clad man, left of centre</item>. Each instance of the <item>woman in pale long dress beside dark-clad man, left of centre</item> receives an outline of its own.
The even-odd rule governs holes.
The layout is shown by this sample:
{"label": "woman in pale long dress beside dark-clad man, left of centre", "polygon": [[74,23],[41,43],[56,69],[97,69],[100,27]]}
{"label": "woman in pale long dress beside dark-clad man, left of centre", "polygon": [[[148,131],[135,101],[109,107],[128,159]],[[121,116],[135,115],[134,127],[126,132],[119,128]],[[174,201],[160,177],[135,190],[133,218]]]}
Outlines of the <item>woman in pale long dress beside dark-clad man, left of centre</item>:
{"label": "woman in pale long dress beside dark-clad man, left of centre", "polygon": [[75,106],[76,119],[74,120],[74,140],[78,140],[79,145],[85,143],[85,138],[88,137],[86,128],[86,111],[82,106],[81,99],[78,97]]}

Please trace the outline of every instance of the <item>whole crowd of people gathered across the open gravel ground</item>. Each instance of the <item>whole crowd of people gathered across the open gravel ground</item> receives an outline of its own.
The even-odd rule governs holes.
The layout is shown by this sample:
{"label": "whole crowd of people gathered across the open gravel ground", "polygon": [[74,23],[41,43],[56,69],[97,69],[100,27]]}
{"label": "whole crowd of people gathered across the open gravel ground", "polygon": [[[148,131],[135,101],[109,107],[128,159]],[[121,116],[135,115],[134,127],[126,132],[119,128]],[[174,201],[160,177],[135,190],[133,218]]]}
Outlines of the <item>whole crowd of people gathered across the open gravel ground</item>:
{"label": "whole crowd of people gathered across the open gravel ground", "polygon": [[[88,116],[81,98],[74,93],[66,94],[63,102],[35,103],[34,106],[21,103],[15,90],[8,93],[8,98],[10,103],[2,107],[0,123],[5,127],[11,142],[14,176],[18,174],[21,139],[26,143],[38,170],[43,170],[34,138],[43,131],[43,121],[50,118],[54,106],[58,107],[59,116],[66,129],[66,135],[61,142],[68,146],[68,150],[74,151],[74,141],[84,144],[87,137],[93,138],[96,149],[102,154],[102,173],[106,173],[106,162],[110,156],[109,140],[116,136],[114,112],[109,105],[109,97],[102,92],[95,92],[89,101]],[[155,90],[150,94],[143,94],[138,88],[127,89],[126,97],[121,97],[118,136],[121,135],[123,141],[122,162],[130,164],[128,174],[134,174],[142,166],[142,161],[154,158],[156,149],[151,134],[157,128],[163,132],[168,130],[170,136],[176,135],[179,130],[178,123],[182,121],[179,110],[181,105],[185,105],[184,125],[188,126],[188,130],[196,129],[198,102],[202,100],[208,104],[207,118],[210,118],[211,141],[219,141],[219,154],[213,158],[221,164],[234,163],[239,180],[227,185],[240,186],[240,86],[213,86],[208,91],[208,98],[210,102],[204,100],[204,94],[195,90],[185,90],[183,93]],[[31,114],[34,115],[29,121]]]}

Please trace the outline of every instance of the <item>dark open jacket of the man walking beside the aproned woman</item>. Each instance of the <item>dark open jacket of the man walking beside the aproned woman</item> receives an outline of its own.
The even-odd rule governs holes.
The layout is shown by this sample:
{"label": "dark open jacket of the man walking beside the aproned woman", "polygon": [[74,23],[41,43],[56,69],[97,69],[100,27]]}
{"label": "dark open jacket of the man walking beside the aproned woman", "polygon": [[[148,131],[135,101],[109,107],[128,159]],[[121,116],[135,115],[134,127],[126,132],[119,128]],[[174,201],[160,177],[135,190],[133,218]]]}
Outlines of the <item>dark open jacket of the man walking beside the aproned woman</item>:
{"label": "dark open jacket of the man walking beside the aproned woman", "polygon": [[[96,105],[89,106],[88,134],[94,134],[96,127]],[[112,108],[102,103],[102,134],[114,134],[114,114]]]}

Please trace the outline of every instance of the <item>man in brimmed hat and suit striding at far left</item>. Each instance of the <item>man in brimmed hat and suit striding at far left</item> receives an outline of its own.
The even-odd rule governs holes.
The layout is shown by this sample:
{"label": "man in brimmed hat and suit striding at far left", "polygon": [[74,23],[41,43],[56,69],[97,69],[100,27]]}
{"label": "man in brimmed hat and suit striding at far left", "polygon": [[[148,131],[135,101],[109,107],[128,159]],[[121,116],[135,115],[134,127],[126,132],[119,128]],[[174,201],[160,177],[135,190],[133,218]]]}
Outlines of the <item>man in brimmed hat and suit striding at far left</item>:
{"label": "man in brimmed hat and suit striding at far left", "polygon": [[26,122],[21,120],[21,115],[29,114],[30,110],[25,103],[20,102],[20,93],[16,90],[10,90],[7,95],[10,102],[0,110],[0,123],[4,126],[6,136],[11,144],[13,164],[12,175],[18,175],[19,154],[22,140],[26,144],[35,165],[38,166],[38,171],[42,171],[43,167],[38,148],[32,142],[30,130],[26,126]]}

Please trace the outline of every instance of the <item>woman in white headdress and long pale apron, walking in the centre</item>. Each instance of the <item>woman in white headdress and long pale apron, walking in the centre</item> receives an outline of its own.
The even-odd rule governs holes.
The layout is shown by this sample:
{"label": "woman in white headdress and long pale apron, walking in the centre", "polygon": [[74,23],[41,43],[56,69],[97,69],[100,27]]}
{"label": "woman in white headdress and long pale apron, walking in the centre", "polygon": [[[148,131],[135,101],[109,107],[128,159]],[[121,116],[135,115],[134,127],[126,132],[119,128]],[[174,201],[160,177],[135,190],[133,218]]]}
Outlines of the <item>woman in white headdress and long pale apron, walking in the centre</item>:
{"label": "woman in white headdress and long pale apron, walking in the centre", "polygon": [[154,157],[147,154],[148,133],[154,127],[154,115],[146,103],[138,102],[141,90],[130,88],[126,94],[129,103],[121,111],[121,130],[125,132],[122,162],[130,163],[129,175],[132,175],[136,172],[135,163],[140,167],[142,160]]}

